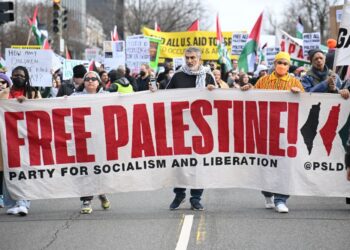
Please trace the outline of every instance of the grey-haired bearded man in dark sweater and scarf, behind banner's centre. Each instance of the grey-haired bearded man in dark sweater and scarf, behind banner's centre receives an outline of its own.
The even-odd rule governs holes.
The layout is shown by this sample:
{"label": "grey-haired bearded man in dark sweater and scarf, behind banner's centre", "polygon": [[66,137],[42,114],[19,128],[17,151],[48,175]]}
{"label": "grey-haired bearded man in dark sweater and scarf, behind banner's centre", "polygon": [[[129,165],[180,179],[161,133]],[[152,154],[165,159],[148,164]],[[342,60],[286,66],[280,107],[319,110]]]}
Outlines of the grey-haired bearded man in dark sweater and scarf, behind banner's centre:
{"label": "grey-haired bearded man in dark sweater and scarf, behind banner's centre", "polygon": [[[197,47],[188,47],[185,49],[186,64],[181,66],[171,78],[166,89],[175,88],[207,88],[212,90],[215,88],[215,79],[210,68],[206,68],[200,64],[201,50]],[[186,188],[174,188],[175,199],[170,204],[170,210],[179,208],[181,203],[185,201]],[[191,209],[204,210],[200,203],[203,189],[191,189]]]}

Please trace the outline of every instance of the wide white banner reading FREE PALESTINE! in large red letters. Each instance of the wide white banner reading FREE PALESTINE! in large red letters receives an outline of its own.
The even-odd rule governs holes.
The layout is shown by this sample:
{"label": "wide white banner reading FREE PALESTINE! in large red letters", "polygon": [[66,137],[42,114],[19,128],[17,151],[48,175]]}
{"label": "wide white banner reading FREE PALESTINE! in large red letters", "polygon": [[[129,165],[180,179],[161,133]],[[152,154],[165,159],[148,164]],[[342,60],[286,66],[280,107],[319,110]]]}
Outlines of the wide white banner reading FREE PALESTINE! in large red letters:
{"label": "wide white banner reading FREE PALESTINE! in large red letters", "polygon": [[349,196],[349,101],[216,89],[1,100],[14,198],[164,187]]}

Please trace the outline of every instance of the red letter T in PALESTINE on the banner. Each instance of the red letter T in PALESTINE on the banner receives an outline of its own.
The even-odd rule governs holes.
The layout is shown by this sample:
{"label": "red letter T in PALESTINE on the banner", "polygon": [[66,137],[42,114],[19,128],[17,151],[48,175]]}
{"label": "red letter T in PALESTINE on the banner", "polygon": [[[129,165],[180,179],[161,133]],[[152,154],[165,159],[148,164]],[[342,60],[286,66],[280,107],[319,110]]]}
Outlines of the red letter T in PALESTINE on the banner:
{"label": "red letter T in PALESTINE on the banner", "polygon": [[214,108],[218,110],[219,152],[227,153],[230,150],[228,110],[232,108],[232,101],[214,101]]}

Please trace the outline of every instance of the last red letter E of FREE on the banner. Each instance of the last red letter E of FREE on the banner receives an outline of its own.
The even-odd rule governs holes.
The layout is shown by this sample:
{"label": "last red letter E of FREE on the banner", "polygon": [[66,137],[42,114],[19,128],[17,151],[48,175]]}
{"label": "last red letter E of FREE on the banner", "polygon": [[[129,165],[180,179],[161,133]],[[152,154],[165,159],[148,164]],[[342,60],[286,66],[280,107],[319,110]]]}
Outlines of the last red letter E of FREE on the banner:
{"label": "last red letter E of FREE on the banner", "polygon": [[91,108],[73,109],[73,128],[76,151],[76,162],[93,162],[95,155],[89,155],[86,139],[91,138],[91,132],[85,130],[85,116],[91,115]]}

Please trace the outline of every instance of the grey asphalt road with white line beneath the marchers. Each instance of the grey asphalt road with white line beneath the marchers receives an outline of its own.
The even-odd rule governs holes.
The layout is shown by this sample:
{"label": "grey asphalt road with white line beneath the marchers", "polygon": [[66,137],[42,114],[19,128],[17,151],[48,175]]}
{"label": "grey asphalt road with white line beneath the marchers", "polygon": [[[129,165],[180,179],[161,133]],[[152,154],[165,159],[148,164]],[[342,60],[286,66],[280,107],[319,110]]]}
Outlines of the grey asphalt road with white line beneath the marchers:
{"label": "grey asphalt road with white line beneath the marchers", "polygon": [[350,249],[344,198],[291,197],[288,214],[265,209],[260,192],[245,189],[206,190],[205,211],[190,210],[188,199],[170,211],[170,189],[109,198],[110,210],[96,198],[90,215],[79,213],[78,198],[33,201],[26,217],[0,209],[0,249]]}

